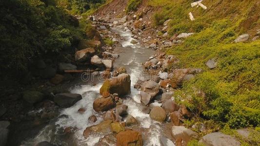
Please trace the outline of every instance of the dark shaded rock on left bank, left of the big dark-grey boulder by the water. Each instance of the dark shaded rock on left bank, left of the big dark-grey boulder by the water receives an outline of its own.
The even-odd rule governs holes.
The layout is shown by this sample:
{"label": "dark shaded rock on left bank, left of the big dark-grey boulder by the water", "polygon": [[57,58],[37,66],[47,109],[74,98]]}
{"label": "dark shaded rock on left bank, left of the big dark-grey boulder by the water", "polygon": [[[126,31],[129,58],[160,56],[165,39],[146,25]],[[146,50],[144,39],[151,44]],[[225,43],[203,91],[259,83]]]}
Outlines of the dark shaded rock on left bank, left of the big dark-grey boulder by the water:
{"label": "dark shaded rock on left bank, left of the big dark-grey boulder by the water", "polygon": [[44,94],[39,91],[24,91],[22,98],[28,103],[34,104],[40,102],[44,98]]}

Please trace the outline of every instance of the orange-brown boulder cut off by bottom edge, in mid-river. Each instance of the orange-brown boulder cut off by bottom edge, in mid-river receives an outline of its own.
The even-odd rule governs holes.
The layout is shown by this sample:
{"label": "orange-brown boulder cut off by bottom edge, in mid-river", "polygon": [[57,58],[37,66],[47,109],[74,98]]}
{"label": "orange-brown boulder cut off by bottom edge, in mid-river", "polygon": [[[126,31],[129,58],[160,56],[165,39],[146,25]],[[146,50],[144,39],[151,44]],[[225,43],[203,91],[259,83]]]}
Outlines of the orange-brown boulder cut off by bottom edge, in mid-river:
{"label": "orange-brown boulder cut off by bottom edge, in mid-river", "polygon": [[117,134],[117,146],[142,146],[142,135],[134,130],[122,131]]}

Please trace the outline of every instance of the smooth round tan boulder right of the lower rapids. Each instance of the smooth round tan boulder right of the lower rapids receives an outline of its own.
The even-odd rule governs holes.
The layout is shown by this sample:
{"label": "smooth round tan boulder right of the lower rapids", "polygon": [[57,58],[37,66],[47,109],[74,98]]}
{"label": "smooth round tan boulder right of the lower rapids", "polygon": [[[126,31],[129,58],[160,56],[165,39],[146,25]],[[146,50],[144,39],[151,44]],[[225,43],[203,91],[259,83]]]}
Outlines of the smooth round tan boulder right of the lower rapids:
{"label": "smooth round tan boulder right of the lower rapids", "polygon": [[163,122],[166,118],[166,112],[161,107],[155,106],[151,112],[150,117],[158,122]]}

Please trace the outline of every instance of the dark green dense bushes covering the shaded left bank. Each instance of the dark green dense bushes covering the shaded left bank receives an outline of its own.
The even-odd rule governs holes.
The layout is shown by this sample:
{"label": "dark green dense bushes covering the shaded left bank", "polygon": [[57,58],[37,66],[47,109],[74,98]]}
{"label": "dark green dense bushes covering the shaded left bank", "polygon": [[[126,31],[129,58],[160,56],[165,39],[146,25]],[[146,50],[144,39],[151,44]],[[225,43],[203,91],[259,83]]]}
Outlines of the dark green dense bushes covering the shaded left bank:
{"label": "dark green dense bushes covering the shaded left bank", "polygon": [[[21,77],[42,56],[73,52],[104,0],[1,0],[0,76]],[[83,15],[80,22],[72,15]]]}

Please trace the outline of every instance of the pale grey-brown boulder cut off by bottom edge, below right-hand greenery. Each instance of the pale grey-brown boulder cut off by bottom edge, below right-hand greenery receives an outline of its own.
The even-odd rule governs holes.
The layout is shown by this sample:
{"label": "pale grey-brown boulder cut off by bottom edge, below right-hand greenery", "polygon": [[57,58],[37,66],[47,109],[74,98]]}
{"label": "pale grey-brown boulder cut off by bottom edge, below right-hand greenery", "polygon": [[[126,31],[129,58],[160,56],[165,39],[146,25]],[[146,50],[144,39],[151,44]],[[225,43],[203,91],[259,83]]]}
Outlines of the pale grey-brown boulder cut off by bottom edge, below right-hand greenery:
{"label": "pale grey-brown boulder cut off by bottom edge, below right-hand greenery", "polygon": [[230,135],[223,134],[221,132],[213,132],[203,136],[200,144],[204,146],[240,146],[240,142]]}

